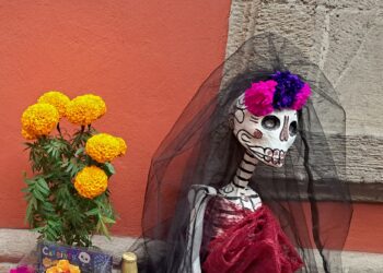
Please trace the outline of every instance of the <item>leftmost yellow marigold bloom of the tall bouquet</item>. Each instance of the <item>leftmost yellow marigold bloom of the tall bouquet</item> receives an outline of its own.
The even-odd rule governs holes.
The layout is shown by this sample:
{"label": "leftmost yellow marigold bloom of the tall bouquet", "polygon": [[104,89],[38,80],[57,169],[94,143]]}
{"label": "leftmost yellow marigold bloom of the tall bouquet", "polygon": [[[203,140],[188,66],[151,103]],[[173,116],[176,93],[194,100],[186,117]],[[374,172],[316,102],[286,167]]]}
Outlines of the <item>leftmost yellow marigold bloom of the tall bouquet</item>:
{"label": "leftmost yellow marigold bloom of the tall bouquet", "polygon": [[59,118],[55,106],[34,104],[26,108],[21,117],[22,130],[31,136],[47,135],[55,129]]}

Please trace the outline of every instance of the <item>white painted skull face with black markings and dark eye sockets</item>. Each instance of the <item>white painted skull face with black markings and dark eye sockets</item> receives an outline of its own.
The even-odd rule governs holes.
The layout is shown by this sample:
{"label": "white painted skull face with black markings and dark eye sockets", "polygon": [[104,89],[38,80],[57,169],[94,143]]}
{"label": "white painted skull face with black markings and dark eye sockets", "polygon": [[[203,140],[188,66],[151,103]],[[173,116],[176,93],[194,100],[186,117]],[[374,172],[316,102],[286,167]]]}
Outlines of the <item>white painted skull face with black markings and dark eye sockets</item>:
{"label": "white painted skull face with black markings and dark eye sockets", "polygon": [[297,136],[297,110],[274,110],[257,117],[246,109],[242,95],[234,107],[232,126],[236,139],[249,154],[267,165],[281,167]]}

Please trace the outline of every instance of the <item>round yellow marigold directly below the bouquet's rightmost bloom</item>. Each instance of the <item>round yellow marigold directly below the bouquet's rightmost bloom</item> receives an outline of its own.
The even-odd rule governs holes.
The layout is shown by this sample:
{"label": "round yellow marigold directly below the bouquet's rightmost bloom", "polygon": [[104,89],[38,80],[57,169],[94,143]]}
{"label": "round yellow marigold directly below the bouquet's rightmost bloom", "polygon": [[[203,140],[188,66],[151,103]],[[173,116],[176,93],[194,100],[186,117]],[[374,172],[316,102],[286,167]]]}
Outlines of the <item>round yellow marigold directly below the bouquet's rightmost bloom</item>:
{"label": "round yellow marigold directly below the bouquet's rightmost bloom", "polygon": [[83,198],[93,199],[107,188],[107,176],[96,166],[84,167],[74,178],[74,188]]}

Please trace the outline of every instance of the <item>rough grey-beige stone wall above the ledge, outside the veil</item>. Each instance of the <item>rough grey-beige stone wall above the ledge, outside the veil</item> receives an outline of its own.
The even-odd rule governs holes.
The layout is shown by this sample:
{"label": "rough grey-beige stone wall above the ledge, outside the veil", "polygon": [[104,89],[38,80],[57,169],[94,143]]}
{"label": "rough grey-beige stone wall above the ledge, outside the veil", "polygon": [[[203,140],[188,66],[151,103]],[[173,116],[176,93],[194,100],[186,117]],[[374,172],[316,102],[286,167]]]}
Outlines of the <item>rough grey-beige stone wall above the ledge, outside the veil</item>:
{"label": "rough grey-beige stone wall above the ledge, outside the veil", "polygon": [[382,183],[383,0],[232,0],[227,55],[263,32],[294,41],[336,87],[347,180]]}

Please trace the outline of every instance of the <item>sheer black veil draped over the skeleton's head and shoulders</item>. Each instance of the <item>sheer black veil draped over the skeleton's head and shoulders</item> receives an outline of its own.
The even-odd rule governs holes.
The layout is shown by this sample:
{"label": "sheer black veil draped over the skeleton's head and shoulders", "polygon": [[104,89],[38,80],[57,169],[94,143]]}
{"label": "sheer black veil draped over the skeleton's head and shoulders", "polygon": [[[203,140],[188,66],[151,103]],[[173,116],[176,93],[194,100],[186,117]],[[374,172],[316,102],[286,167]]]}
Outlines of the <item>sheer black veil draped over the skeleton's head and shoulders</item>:
{"label": "sheer black veil draped over the skeleton's head and shoulders", "polygon": [[341,272],[352,215],[344,183],[345,111],[318,67],[275,34],[254,36],[217,68],[153,155],[142,238],[131,248],[140,272],[178,272],[182,263],[182,272],[192,272],[186,235],[190,187],[219,189],[230,182],[244,154],[230,128],[231,106],[252,82],[286,70],[307,82],[313,94],[299,111],[298,135],[285,166],[259,164],[249,186],[297,247],[302,272]]}

